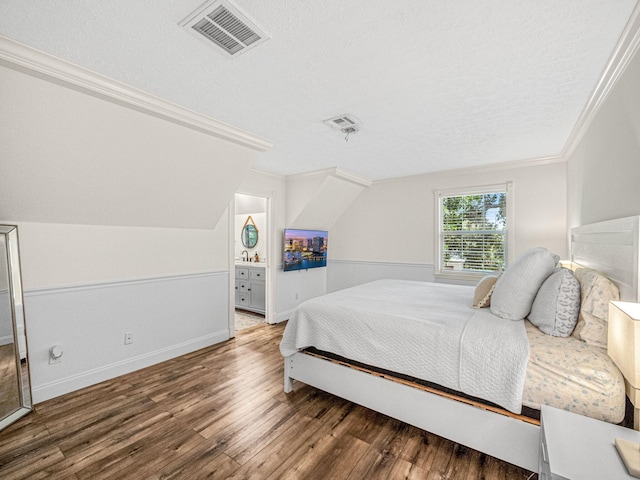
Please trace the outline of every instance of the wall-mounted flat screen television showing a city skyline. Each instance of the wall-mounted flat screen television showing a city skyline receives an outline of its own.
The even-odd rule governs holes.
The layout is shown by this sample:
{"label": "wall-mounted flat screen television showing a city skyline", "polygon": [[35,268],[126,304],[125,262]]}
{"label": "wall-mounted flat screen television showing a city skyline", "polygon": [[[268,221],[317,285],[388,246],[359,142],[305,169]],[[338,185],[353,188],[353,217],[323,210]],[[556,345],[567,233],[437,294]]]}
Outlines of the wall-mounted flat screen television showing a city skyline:
{"label": "wall-mounted flat screen television showing a city skyline", "polygon": [[327,266],[327,239],[325,230],[284,230],[284,271],[307,270]]}

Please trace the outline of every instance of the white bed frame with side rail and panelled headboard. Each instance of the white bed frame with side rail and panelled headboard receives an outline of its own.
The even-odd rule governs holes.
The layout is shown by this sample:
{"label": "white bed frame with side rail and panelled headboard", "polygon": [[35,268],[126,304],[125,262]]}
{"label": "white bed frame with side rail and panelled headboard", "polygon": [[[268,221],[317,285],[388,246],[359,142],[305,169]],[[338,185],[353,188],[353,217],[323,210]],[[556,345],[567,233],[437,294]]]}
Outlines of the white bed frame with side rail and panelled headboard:
{"label": "white bed frame with side rail and panelled headboard", "polygon": [[[571,261],[597,269],[638,301],[640,216],[571,230]],[[297,380],[530,471],[538,470],[540,427],[508,412],[459,401],[430,389],[304,352],[285,358],[284,390]]]}

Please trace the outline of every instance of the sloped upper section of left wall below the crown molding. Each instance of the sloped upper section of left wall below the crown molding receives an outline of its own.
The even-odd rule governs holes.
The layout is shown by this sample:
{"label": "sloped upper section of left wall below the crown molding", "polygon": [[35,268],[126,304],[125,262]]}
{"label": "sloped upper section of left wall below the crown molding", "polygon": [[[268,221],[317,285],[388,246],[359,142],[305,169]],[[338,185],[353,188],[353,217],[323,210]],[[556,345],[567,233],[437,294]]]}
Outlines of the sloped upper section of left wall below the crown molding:
{"label": "sloped upper section of left wall below the crown molding", "polygon": [[257,152],[0,66],[0,218],[213,228]]}

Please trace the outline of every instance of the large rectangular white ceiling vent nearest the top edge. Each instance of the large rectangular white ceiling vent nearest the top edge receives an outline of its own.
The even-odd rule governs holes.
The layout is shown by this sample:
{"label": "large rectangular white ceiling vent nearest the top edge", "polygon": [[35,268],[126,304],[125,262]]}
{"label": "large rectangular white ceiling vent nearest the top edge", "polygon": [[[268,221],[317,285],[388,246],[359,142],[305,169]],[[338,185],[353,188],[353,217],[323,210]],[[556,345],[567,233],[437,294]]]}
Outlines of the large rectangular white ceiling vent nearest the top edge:
{"label": "large rectangular white ceiling vent nearest the top edge", "polygon": [[217,51],[230,58],[271,38],[227,0],[205,3],[182,20],[180,26],[210,46],[217,46]]}

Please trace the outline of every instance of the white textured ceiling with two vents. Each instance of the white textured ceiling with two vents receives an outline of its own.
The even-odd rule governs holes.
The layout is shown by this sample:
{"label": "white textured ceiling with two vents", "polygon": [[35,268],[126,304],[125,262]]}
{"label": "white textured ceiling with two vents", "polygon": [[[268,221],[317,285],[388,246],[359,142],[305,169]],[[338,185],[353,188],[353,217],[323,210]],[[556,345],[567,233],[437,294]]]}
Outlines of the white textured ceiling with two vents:
{"label": "white textured ceiling with two vents", "polygon": [[178,26],[201,0],[3,0],[0,34],[271,140],[258,170],[379,180],[560,155],[636,4],[232,2],[271,35],[233,60]]}

